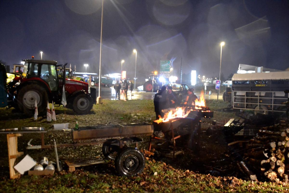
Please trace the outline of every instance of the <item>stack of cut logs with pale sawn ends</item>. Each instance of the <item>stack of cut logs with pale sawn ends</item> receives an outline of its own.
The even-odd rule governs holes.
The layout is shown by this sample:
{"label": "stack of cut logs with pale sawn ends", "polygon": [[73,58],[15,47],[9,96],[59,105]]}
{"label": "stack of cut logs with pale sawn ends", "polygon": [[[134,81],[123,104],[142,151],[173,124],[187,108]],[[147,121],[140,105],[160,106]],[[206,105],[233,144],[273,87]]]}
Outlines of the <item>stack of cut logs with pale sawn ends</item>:
{"label": "stack of cut logs with pale sawn ends", "polygon": [[[279,183],[288,183],[289,174],[289,129],[282,124],[263,127],[246,146],[240,168],[252,179],[261,178]],[[247,166],[245,165],[247,163]],[[287,165],[288,164],[288,165]],[[255,171],[253,172],[250,171]]]}

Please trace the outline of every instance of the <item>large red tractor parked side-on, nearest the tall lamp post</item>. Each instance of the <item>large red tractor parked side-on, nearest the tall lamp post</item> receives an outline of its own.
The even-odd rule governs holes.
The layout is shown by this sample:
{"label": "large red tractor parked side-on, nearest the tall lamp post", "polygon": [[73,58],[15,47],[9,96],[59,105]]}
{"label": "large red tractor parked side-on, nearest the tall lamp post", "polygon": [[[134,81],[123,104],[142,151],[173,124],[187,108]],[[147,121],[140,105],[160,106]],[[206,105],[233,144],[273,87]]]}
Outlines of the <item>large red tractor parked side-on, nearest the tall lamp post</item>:
{"label": "large red tractor parked side-on, nearest the tall lamp post", "polygon": [[[10,106],[31,115],[37,102],[38,113],[44,112],[47,102],[61,104],[63,83],[69,109],[77,114],[87,114],[96,103],[96,89],[88,83],[68,79],[58,74],[57,62],[54,60],[26,59],[22,76],[15,77],[8,84],[8,102]],[[66,65],[66,64],[65,64]],[[64,65],[64,69],[65,69]]]}

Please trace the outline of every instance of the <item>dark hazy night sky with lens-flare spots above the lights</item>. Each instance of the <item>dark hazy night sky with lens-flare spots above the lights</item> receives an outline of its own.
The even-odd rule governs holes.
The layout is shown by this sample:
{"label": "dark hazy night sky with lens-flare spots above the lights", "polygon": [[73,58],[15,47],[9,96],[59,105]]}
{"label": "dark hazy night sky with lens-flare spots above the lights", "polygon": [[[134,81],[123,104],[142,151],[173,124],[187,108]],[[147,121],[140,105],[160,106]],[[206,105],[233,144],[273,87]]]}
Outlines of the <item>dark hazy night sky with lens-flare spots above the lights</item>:
{"label": "dark hazy night sky with lens-flare spots above the lights", "polygon": [[[289,1],[104,0],[103,74],[142,80],[173,61],[173,74],[218,76],[248,64],[284,70],[289,59]],[[98,73],[101,0],[1,0],[0,60],[35,56]],[[144,79],[143,79],[144,80]]]}

